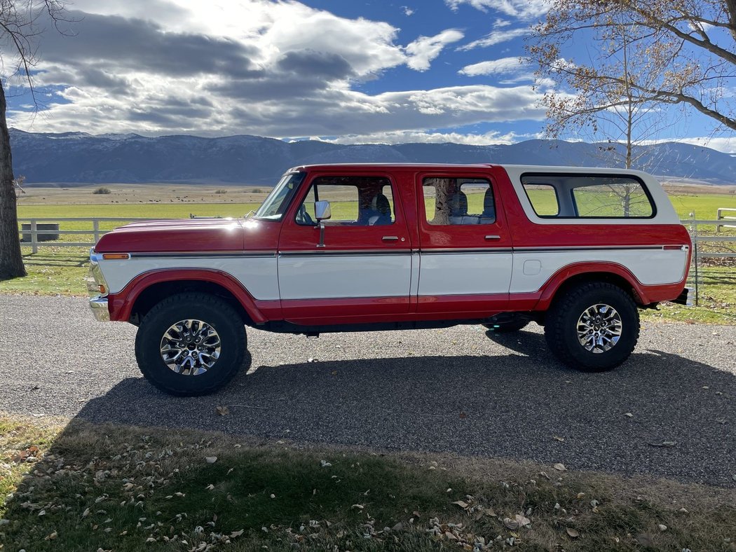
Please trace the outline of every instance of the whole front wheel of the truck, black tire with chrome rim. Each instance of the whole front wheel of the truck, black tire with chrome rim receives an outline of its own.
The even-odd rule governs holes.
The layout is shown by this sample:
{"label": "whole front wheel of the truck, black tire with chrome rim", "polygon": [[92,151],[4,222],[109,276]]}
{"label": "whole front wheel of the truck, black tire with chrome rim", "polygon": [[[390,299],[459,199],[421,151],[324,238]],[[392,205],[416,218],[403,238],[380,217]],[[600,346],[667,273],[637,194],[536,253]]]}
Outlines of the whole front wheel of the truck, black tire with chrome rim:
{"label": "whole front wheel of the truck, black tire with chrome rim", "polygon": [[146,314],[135,335],[141,372],[175,395],[220,389],[236,375],[245,352],[241,316],[220,297],[203,293],[167,297]]}

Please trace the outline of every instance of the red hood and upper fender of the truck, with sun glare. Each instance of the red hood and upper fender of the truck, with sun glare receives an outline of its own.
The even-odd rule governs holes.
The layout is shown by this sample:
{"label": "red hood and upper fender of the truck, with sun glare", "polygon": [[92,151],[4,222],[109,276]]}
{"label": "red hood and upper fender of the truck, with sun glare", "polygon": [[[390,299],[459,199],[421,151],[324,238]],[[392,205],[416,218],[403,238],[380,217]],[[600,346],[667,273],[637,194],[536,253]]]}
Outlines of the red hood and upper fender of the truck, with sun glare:
{"label": "red hood and upper fender of the truck, with sun glare", "polygon": [[116,228],[102,236],[94,249],[164,253],[242,251],[244,247],[243,219],[158,219]]}

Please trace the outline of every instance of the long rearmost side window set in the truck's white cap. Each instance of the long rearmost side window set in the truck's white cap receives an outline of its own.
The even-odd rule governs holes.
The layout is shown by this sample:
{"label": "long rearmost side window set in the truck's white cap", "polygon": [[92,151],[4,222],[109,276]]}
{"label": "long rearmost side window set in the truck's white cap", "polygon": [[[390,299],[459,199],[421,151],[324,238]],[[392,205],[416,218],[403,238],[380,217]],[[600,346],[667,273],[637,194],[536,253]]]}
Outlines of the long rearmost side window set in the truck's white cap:
{"label": "long rearmost side window set in the truck's white cap", "polygon": [[524,191],[538,216],[566,219],[649,219],[654,206],[636,177],[525,174]]}

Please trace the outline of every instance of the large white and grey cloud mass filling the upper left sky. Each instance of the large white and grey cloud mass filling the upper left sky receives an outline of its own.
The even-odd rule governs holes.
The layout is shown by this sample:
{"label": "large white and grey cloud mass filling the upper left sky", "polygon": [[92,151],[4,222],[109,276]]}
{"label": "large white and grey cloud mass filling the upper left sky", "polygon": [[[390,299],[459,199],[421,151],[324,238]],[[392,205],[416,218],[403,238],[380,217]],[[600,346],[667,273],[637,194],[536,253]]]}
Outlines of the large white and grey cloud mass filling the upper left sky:
{"label": "large white and grey cloud mass filling the upper left sky", "polygon": [[456,29],[402,46],[388,23],[293,0],[76,0],[74,7],[76,35],[48,32],[41,42],[37,79],[57,92],[37,116],[11,109],[10,124],[284,138],[544,118],[528,85],[361,91],[392,68],[426,71],[463,38]]}

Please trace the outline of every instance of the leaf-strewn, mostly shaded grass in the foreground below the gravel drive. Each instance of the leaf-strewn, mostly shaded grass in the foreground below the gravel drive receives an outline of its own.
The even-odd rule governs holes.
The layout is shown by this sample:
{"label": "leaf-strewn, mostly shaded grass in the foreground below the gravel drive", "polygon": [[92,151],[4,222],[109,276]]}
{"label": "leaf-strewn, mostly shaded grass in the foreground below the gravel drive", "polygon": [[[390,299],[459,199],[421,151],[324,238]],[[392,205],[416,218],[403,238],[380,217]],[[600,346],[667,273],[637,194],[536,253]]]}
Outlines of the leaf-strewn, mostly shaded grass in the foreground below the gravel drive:
{"label": "leaf-strewn, mostly shaded grass in the foreground below the gravel drive", "polygon": [[11,493],[0,498],[8,551],[728,551],[736,542],[733,489],[79,420],[0,415],[0,484]]}

